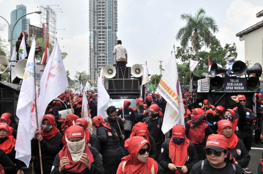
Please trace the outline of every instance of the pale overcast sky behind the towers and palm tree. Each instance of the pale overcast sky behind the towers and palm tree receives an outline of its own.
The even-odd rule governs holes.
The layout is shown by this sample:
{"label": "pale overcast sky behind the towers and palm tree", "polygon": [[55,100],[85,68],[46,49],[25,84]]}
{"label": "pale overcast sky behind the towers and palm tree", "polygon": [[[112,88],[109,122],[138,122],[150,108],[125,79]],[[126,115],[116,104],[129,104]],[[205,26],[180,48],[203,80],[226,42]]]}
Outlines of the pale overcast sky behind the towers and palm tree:
{"label": "pale overcast sky behind the towers and palm tree", "polygon": [[[89,72],[89,1],[88,0],[0,0],[0,16],[10,22],[10,13],[16,5],[27,6],[27,13],[38,11],[39,5],[59,5],[63,13],[57,13],[57,37],[61,51],[67,52],[64,60],[71,77],[75,71]],[[256,13],[263,10],[263,0],[118,0],[118,39],[128,51],[128,66],[145,64],[150,74],[159,74],[159,62],[165,67],[170,52],[180,46],[175,40],[179,28],[185,25],[180,19],[183,13],[194,14],[204,8],[219,26],[216,37],[224,46],[235,42],[238,60],[244,61],[244,41],[235,35],[260,22]],[[32,25],[39,25],[39,15],[28,16]],[[0,24],[6,22],[0,18]],[[0,32],[7,39],[8,27]]]}

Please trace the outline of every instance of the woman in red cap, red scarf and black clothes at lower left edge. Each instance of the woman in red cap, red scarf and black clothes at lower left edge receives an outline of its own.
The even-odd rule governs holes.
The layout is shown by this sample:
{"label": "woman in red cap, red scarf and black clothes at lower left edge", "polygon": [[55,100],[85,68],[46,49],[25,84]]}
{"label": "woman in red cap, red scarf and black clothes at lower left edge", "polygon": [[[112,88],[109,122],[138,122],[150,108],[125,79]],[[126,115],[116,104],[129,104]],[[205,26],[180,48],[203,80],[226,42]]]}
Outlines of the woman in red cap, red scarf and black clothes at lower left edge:
{"label": "woman in red cap, red scarf and black clothes at lower left edge", "polygon": [[16,139],[12,135],[8,135],[9,130],[9,126],[6,123],[0,123],[0,149],[2,149],[5,154],[12,160],[12,162],[16,164],[16,170],[18,171],[17,174],[21,174],[22,163],[20,160],[15,158]]}

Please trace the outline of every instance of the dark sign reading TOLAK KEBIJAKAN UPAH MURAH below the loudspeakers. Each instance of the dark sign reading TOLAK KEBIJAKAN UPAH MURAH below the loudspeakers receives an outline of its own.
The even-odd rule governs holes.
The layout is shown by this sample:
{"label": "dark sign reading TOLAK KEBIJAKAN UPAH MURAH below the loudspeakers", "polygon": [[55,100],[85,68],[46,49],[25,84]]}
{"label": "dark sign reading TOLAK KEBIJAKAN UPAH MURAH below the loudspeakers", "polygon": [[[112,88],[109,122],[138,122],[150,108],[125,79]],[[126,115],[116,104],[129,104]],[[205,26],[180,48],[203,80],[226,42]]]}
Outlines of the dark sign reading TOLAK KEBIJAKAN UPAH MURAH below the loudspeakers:
{"label": "dark sign reading TOLAK KEBIJAKAN UPAH MURAH below the loudspeakers", "polygon": [[245,78],[225,78],[224,91],[246,91]]}

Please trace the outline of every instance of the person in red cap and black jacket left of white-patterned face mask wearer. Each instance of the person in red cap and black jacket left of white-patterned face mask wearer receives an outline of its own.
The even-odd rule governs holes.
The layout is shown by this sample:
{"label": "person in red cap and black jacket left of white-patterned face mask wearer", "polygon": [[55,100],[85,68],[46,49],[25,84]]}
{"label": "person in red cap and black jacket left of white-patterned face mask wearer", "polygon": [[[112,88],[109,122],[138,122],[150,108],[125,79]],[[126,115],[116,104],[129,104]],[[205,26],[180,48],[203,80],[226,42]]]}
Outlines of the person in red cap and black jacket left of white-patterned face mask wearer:
{"label": "person in red cap and black jacket left of white-patterned face mask wearer", "polygon": [[221,114],[223,114],[225,108],[223,106],[217,106],[215,110],[207,110],[206,123],[210,126],[214,134],[217,134],[216,123],[222,120]]}

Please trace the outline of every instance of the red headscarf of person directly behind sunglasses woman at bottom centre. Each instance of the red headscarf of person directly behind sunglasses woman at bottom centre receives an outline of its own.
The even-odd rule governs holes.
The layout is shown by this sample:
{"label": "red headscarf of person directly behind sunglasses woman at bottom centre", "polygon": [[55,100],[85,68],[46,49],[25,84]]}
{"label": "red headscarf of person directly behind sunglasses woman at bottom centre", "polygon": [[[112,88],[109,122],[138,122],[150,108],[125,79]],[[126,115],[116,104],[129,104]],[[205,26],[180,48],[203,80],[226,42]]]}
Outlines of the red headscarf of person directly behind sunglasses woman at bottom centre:
{"label": "red headscarf of person directly behind sunglasses woman at bottom centre", "polygon": [[138,122],[134,125],[131,131],[130,138],[135,136],[145,136],[145,139],[149,142],[150,132],[147,128],[146,122]]}

